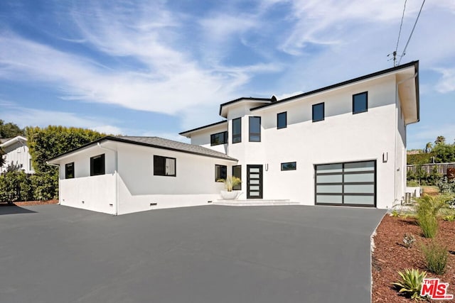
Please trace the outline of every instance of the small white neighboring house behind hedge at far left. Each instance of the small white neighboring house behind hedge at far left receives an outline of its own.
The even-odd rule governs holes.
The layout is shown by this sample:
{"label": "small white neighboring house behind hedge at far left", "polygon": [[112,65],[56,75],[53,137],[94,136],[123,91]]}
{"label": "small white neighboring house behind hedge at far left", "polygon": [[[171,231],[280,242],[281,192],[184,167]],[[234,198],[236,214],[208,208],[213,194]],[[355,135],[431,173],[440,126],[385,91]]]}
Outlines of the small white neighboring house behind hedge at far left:
{"label": "small white neighboring house behind hedge at far left", "polygon": [[16,136],[14,138],[0,139],[0,148],[4,151],[4,165],[0,167],[0,173],[6,170],[8,165],[17,165],[26,174],[34,174],[31,164],[31,156],[28,153],[27,138]]}

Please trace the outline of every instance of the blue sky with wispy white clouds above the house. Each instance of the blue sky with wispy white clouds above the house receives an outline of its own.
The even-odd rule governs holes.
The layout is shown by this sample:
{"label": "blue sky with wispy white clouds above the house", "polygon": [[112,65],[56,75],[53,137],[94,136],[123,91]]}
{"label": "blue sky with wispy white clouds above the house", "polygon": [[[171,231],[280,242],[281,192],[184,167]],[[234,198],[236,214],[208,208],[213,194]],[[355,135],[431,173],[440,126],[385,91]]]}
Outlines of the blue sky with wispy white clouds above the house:
{"label": "blue sky with wispy white clouds above the house", "polygon": [[[408,0],[402,53],[422,1]],[[288,97],[392,67],[396,0],[0,1],[0,119],[184,141],[239,97]],[[408,148],[455,139],[455,1],[427,1]]]}

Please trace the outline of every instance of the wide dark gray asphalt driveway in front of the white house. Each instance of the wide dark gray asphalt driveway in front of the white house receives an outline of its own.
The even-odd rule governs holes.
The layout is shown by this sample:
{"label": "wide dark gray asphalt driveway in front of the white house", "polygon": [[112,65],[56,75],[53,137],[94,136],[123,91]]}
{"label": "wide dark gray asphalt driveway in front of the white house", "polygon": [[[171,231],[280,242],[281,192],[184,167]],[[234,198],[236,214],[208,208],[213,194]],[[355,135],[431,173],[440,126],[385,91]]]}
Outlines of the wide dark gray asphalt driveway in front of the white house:
{"label": "wide dark gray asphalt driveway in front of the white house", "polygon": [[385,211],[0,207],[0,302],[370,302]]}

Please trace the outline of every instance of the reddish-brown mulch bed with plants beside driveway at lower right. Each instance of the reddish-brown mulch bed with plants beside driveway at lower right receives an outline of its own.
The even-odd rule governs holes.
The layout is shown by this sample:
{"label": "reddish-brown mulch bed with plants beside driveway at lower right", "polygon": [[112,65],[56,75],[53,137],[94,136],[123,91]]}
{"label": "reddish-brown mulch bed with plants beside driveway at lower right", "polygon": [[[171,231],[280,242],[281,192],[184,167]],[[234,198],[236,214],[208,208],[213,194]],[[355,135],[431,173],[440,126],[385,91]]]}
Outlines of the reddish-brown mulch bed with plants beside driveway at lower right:
{"label": "reddish-brown mulch bed with plants beside driveway at lower right", "polygon": [[[426,270],[424,255],[419,250],[419,243],[429,239],[422,237],[422,231],[414,218],[402,218],[386,215],[376,231],[375,250],[372,256],[373,302],[414,302],[398,294],[391,282],[400,280],[397,271],[405,268]],[[416,241],[411,248],[402,246],[405,233],[412,233]],[[455,252],[455,221],[439,221],[437,241]],[[427,270],[426,270],[427,271]],[[449,283],[448,294],[455,294],[455,255],[449,253],[447,269],[444,275],[429,272],[427,277],[439,277],[441,282]],[[433,300],[431,302],[449,302]],[[455,302],[455,301],[451,301]]]}

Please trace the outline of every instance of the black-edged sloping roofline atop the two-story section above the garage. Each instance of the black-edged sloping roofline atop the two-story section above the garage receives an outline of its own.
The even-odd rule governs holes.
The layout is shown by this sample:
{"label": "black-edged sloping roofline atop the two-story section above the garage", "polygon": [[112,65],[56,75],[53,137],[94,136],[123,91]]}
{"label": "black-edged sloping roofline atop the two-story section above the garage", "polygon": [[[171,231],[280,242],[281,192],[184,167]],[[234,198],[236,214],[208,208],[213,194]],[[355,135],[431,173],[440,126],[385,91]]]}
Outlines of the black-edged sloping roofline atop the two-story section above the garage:
{"label": "black-edged sloping roofline atop the two-story section above the garage", "polygon": [[298,99],[298,98],[301,98],[301,97],[306,97],[306,96],[309,96],[311,94],[317,94],[319,92],[324,92],[324,91],[327,91],[327,90],[330,90],[330,89],[343,87],[343,86],[345,86],[347,84],[351,84],[351,83],[354,83],[354,82],[359,82],[359,81],[362,81],[362,80],[365,80],[365,79],[370,79],[370,78],[378,77],[378,76],[385,75],[385,74],[388,74],[388,73],[397,72],[399,70],[404,70],[404,69],[409,68],[409,67],[414,67],[415,74],[416,74],[414,82],[415,82],[415,98],[416,98],[416,101],[417,101],[417,104],[416,104],[416,106],[417,106],[417,121],[415,121],[415,122],[418,122],[419,119],[420,119],[420,116],[419,116],[420,115],[419,114],[419,75],[418,75],[418,72],[419,72],[419,61],[412,61],[412,62],[409,62],[409,63],[407,63],[405,65],[398,65],[396,67],[388,68],[387,70],[381,70],[379,72],[373,72],[373,74],[369,74],[369,75],[365,75],[365,76],[362,76],[362,77],[357,77],[357,78],[354,78],[354,79],[343,81],[343,82],[340,82],[340,83],[337,83],[337,84],[330,85],[328,87],[322,87],[320,89],[315,89],[315,90],[313,90],[311,92],[305,92],[303,94],[298,94],[296,96],[292,96],[292,97],[288,97],[286,99],[282,99],[282,100],[279,100],[279,101],[271,102],[269,104],[263,104],[261,106],[257,106],[255,108],[252,108],[251,111],[255,111],[257,109],[263,109],[264,107],[268,107],[268,106],[275,106],[277,104],[282,104],[282,103],[287,102],[287,101],[291,101],[291,100]]}

